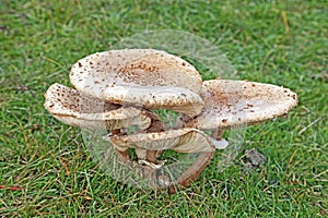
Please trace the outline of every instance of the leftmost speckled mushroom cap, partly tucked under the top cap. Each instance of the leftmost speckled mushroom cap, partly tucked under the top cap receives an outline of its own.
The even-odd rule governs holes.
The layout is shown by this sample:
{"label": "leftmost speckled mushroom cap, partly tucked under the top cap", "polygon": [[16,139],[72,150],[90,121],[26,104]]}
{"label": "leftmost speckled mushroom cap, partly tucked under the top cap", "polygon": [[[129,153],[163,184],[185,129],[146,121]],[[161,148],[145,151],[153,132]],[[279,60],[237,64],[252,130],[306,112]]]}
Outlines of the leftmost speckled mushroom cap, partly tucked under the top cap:
{"label": "leftmost speckled mushroom cap, partly tucked under the top cap", "polygon": [[137,125],[143,130],[151,124],[140,109],[89,98],[58,83],[46,92],[44,105],[56,119],[81,129],[103,131]]}

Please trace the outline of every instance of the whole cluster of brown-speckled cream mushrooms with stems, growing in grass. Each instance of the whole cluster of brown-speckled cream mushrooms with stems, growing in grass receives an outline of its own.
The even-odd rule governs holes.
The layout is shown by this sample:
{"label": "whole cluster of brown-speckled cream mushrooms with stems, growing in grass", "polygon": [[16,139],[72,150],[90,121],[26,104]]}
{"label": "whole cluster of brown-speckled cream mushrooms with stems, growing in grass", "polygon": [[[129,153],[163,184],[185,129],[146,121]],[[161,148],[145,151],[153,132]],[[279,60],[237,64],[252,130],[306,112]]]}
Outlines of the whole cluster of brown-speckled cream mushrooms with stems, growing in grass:
{"label": "whole cluster of brown-speckled cream mushrooms with stems, growing in grass", "polygon": [[[276,85],[202,81],[184,59],[154,49],[87,56],[72,66],[70,82],[75,89],[57,83],[48,88],[45,108],[68,125],[107,132],[120,164],[137,166],[142,177],[157,177],[171,190],[188,186],[215,150],[226,148],[223,130],[277,118],[297,104],[295,93]],[[167,126],[154,109],[178,113],[175,125]],[[167,149],[201,155],[173,181],[156,173]]]}

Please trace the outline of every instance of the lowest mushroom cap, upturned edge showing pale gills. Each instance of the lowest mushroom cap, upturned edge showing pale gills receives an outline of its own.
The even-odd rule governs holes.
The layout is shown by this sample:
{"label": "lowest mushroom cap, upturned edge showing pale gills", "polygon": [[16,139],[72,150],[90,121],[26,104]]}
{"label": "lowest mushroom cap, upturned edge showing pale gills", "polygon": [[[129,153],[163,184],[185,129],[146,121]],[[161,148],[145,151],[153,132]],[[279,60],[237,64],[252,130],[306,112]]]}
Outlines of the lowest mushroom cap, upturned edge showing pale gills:
{"label": "lowest mushroom cap, upturned edge showing pale gills", "polygon": [[224,148],[225,141],[215,141],[197,129],[178,129],[165,132],[114,135],[110,142],[118,150],[141,148],[148,150],[172,149],[178,153],[211,153]]}

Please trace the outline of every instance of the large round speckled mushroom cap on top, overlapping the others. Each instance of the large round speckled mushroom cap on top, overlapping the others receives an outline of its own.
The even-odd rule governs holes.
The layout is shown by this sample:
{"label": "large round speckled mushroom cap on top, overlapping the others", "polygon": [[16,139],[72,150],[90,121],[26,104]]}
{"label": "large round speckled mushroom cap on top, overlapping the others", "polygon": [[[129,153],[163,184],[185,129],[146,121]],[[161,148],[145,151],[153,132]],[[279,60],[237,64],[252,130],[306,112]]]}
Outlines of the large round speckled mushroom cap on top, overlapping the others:
{"label": "large round speckled mushroom cap on top, overlapping the others", "polygon": [[72,66],[70,81],[85,96],[120,105],[166,108],[189,117],[203,107],[197,70],[176,56],[154,49],[93,53]]}

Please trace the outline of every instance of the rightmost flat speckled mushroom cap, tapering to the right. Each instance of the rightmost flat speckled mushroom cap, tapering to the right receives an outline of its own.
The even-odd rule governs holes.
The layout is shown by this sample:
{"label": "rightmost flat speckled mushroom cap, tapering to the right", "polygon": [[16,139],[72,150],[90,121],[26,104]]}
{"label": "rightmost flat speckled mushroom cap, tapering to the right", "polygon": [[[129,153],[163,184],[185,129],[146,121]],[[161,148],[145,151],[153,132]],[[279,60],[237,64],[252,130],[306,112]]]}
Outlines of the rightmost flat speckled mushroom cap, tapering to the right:
{"label": "rightmost flat speckled mushroom cap, tapering to the right", "polygon": [[251,125],[286,113],[297,105],[288,88],[248,81],[211,80],[201,88],[202,112],[185,126],[201,130]]}

